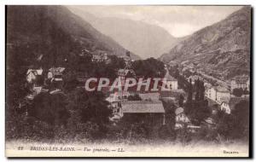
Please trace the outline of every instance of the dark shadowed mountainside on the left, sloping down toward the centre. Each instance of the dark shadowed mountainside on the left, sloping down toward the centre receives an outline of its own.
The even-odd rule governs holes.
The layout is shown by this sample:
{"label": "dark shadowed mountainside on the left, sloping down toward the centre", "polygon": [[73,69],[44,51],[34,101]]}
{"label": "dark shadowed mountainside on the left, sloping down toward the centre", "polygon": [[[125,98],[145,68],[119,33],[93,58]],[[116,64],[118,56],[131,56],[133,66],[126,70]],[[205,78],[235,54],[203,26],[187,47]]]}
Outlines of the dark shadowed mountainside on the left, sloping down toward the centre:
{"label": "dark shadowed mountainside on the left, sloping down toward the centre", "polygon": [[[8,6],[7,45],[46,67],[64,64],[82,49],[124,56],[126,49],[62,6]],[[11,55],[11,54],[9,54]],[[29,55],[29,56],[28,56]],[[133,59],[139,59],[131,54]]]}

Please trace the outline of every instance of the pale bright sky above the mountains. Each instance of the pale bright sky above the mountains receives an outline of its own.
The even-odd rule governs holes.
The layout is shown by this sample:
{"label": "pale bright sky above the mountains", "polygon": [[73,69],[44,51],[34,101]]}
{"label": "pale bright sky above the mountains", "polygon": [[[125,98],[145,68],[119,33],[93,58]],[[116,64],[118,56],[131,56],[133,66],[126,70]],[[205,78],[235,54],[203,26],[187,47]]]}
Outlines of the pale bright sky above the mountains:
{"label": "pale bright sky above the mountains", "polygon": [[184,37],[223,20],[241,6],[67,6],[75,14],[142,20],[161,26],[174,37]]}

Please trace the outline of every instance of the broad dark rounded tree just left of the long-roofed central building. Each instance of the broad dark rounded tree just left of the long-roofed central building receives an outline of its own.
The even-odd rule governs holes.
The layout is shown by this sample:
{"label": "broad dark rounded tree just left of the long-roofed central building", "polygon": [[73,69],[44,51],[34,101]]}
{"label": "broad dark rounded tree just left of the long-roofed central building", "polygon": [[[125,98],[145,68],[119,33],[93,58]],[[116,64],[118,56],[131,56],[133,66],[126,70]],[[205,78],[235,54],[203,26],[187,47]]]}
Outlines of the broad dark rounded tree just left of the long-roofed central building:
{"label": "broad dark rounded tree just left of the long-roofed central building", "polygon": [[73,90],[67,95],[67,108],[73,114],[73,124],[86,124],[91,122],[99,127],[98,135],[104,133],[106,124],[109,123],[109,117],[112,115],[109,103],[105,100],[105,95],[102,92],[88,92],[83,88]]}

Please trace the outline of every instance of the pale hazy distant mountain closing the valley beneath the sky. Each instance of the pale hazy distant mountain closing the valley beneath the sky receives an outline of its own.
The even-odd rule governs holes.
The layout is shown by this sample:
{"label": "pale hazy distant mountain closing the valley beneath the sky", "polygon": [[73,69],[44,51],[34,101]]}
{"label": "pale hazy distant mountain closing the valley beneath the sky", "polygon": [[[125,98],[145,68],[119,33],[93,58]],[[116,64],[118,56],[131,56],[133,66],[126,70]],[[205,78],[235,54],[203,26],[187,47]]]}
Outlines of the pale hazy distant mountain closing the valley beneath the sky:
{"label": "pale hazy distant mountain closing the valley beneath the sky", "polygon": [[158,58],[181,40],[180,38],[174,38],[164,28],[143,21],[96,17],[82,10],[79,10],[79,12],[72,8],[71,10],[90,22],[98,31],[113,38],[125,49],[129,49],[144,59],[148,57]]}

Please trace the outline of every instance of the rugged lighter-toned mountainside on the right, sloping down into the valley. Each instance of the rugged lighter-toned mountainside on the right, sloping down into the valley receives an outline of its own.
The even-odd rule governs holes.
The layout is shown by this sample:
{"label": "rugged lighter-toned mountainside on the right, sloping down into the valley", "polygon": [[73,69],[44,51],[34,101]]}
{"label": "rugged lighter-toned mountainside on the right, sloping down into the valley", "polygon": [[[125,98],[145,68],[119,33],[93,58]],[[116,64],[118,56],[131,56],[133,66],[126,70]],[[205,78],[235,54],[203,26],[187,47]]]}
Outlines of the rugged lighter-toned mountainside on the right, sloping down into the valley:
{"label": "rugged lighter-toned mountainside on the right, sloping down into the valley", "polygon": [[251,7],[207,26],[178,43],[160,61],[176,61],[218,78],[229,79],[250,72]]}

